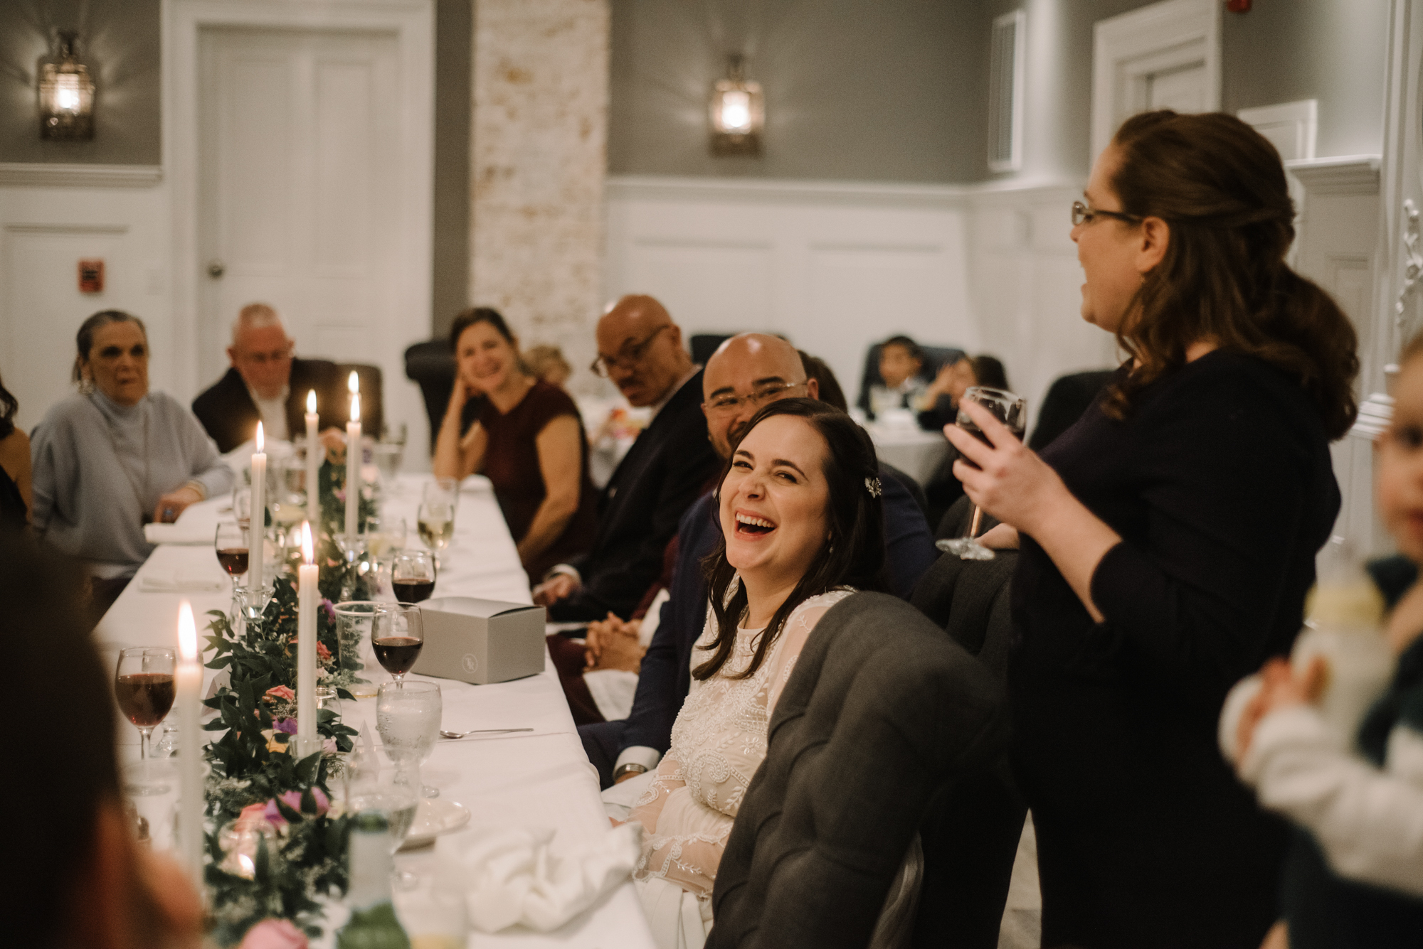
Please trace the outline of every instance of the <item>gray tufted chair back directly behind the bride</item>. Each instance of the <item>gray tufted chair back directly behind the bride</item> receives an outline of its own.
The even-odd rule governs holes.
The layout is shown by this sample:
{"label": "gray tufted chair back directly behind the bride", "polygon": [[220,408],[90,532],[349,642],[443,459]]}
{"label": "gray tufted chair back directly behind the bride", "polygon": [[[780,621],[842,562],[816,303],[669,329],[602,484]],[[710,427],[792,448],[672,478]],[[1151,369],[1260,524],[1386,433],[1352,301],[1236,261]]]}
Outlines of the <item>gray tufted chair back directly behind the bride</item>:
{"label": "gray tufted chair back directly behind the bride", "polygon": [[996,759],[995,678],[902,600],[859,592],[817,624],[713,892],[713,949],[864,949],[931,798]]}

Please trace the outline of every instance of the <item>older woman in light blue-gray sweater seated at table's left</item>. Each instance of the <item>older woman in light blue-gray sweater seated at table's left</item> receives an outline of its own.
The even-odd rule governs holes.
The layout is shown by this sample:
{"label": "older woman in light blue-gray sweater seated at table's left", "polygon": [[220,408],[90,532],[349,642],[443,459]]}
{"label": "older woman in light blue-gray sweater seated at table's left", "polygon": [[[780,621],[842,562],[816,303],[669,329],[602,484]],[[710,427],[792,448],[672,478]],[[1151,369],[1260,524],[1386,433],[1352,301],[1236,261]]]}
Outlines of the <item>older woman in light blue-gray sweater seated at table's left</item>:
{"label": "older woman in light blue-gray sweater seated at table's left", "polygon": [[232,470],[186,406],[148,391],[141,320],[95,313],[77,342],[80,391],[34,432],[31,521],[97,581],[121,590],[152,551],[144,523],[176,520],[188,504],[229,490]]}

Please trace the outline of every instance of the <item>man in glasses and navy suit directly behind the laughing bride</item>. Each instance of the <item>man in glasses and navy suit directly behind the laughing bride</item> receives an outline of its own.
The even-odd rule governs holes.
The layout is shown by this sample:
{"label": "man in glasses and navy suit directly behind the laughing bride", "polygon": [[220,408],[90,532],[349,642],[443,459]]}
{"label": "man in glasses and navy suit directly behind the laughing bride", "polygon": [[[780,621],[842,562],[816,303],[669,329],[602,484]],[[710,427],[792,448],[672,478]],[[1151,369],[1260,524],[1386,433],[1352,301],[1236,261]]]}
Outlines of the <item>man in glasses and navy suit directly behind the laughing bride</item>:
{"label": "man in glasses and navy suit directly behind the laughing bride", "polygon": [[[707,359],[702,386],[707,430],[723,459],[731,456],[731,440],[760,406],[781,398],[820,398],[820,386],[805,376],[795,348],[778,337],[756,332],[723,342]],[[908,600],[938,551],[924,511],[895,473],[881,466],[879,482],[889,585]],[[692,651],[702,635],[707,611],[702,560],[716,550],[721,536],[716,499],[710,493],[697,499],[682,517],[677,531],[677,564],[669,600],[662,605],[657,631],[642,658],[632,713],[616,722],[578,727],[583,750],[598,767],[603,787],[656,767],[672,743],[672,725],[692,688]]]}

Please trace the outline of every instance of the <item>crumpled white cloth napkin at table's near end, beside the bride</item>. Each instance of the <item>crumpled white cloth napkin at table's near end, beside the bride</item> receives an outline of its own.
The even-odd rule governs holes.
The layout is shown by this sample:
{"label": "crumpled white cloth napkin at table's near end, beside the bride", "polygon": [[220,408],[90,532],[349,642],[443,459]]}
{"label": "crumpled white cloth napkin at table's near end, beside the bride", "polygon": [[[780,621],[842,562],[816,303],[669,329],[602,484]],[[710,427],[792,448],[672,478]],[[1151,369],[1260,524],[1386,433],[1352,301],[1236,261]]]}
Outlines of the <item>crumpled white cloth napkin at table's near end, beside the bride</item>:
{"label": "crumpled white cloth napkin at table's near end, beside the bride", "polygon": [[481,932],[514,925],[551,932],[628,879],[642,825],[613,827],[562,852],[552,844],[554,831],[542,827],[441,837],[435,854],[445,879],[437,885],[464,892],[470,925]]}

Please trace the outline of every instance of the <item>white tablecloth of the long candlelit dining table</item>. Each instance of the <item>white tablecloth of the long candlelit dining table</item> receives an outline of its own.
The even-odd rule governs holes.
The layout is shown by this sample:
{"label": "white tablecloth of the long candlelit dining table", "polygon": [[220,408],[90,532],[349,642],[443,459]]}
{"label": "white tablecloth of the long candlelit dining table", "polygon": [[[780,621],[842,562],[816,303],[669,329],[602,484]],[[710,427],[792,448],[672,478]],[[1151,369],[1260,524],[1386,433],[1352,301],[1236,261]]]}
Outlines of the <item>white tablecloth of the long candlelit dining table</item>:
{"label": "white tablecloth of the long candlelit dining table", "polygon": [[[416,509],[421,484],[427,477],[406,474],[396,490],[387,494],[383,521],[391,524],[404,519],[408,544],[416,537]],[[216,520],[225,499],[215,499],[185,511],[184,519]],[[499,514],[498,504],[482,477],[465,480],[451,546],[440,555],[443,568],[435,584],[435,597],[468,595],[508,602],[529,602],[528,581],[519,567],[514,541]],[[184,577],[211,574],[223,581],[221,591],[149,592],[142,590],[145,575]],[[131,645],[174,645],[178,602],[192,602],[198,617],[199,636],[208,609],[228,608],[226,574],[218,565],[212,543],[198,546],[161,544],[139,570],[138,577],[104,615],[98,639],[105,662],[117,651]],[[383,669],[370,668],[364,678],[386,682]],[[211,683],[213,672],[205,671]],[[428,676],[411,675],[410,679]],[[538,825],[556,831],[555,850],[596,841],[608,831],[608,818],[598,796],[598,777],[583,754],[573,719],[564,699],[552,663],[544,672],[527,679],[498,685],[474,686],[450,679],[430,679],[440,683],[444,699],[443,727],[451,730],[532,727],[532,733],[505,737],[441,739],[430,760],[423,766],[425,784],[440,788],[443,800],[453,800],[470,808],[470,825],[457,834],[471,834],[481,827]],[[379,746],[376,733],[376,700],[342,703],[343,717],[351,727],[363,725]],[[155,740],[158,733],[155,732]],[[121,761],[137,760],[138,733],[121,722],[118,733]],[[384,767],[390,763],[379,753]],[[433,868],[433,848],[403,851],[396,858],[398,869],[428,878]],[[403,905],[404,904],[404,905]],[[418,904],[406,902],[397,894],[401,913],[417,912]],[[418,922],[411,919],[413,929]],[[497,935],[471,932],[470,949],[518,946],[652,946],[646,919],[632,884],[623,884],[591,909],[579,913],[551,933],[514,928]]]}

